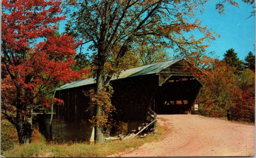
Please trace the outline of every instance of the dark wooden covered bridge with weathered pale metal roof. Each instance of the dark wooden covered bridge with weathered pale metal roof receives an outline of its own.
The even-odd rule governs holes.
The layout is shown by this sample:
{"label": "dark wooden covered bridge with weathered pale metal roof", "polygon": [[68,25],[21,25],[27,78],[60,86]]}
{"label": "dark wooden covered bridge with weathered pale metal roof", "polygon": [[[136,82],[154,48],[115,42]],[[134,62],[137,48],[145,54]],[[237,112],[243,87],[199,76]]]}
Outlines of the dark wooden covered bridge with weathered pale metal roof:
{"label": "dark wooden covered bridge with weathered pale metal roof", "polygon": [[[118,78],[113,77],[110,81],[114,89],[112,104],[117,112],[114,118],[122,122],[143,122],[147,120],[150,109],[157,114],[188,114],[200,87],[203,87],[202,76],[201,70],[184,59],[122,71]],[[95,79],[90,78],[57,89],[55,97],[62,99],[64,105],[54,106],[52,135],[58,137],[58,128],[61,128],[59,137],[85,139],[85,128],[91,127],[86,121],[90,118],[86,111],[90,98],[83,91],[94,86]],[[87,136],[90,134],[88,131]]]}

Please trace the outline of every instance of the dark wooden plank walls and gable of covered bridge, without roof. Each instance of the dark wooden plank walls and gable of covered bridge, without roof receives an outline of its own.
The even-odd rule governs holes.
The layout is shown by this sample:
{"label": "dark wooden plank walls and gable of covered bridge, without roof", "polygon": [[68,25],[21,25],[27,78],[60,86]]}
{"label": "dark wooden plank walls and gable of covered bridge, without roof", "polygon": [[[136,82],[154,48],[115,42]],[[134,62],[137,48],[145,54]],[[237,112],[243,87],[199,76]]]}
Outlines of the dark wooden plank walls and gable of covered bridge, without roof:
{"label": "dark wooden plank walls and gable of covered bridge, without roof", "polygon": [[[173,82],[167,81],[163,84],[170,75],[193,75],[195,77],[199,76],[198,79],[200,75],[204,75],[200,70],[195,69],[194,66],[184,66],[186,63],[188,65],[188,62],[181,60],[157,74],[127,77],[111,81],[110,84],[114,89],[112,104],[116,107],[114,119],[126,123],[146,121],[149,106],[151,106],[151,109],[154,109],[154,100],[155,111],[159,114],[180,113],[182,110],[189,110],[199,92],[200,83],[196,79],[191,80],[192,78],[189,77],[187,77],[186,81],[179,80],[177,77],[171,77],[170,79],[173,79]],[[162,86],[159,86],[160,84]],[[52,126],[53,132],[57,131],[58,127],[58,129],[60,128],[63,131],[60,135],[63,139],[65,139],[64,137],[72,140],[74,138],[85,139],[85,137],[81,136],[80,132],[86,131],[82,126],[85,126],[85,120],[91,118],[92,111],[89,108],[90,98],[86,97],[83,91],[88,91],[93,86],[86,85],[56,92],[55,97],[62,99],[64,105],[54,106],[56,115]],[[175,108],[164,104],[166,101],[174,101],[174,104],[177,105],[177,101],[180,100],[188,102],[186,105],[179,105],[180,107],[176,106]],[[90,129],[90,127],[86,128]],[[68,136],[68,133],[70,133],[70,136]],[[52,134],[55,135],[56,133]]]}

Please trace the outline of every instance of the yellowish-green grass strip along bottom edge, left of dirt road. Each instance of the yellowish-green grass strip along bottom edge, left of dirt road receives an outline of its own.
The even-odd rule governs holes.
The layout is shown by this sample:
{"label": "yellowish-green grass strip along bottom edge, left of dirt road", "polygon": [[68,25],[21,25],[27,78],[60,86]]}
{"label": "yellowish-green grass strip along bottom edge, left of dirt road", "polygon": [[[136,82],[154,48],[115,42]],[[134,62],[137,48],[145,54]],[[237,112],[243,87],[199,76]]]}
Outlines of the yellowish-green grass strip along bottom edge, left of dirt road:
{"label": "yellowish-green grass strip along bottom edge, left of dirt road", "polygon": [[163,126],[158,125],[157,130],[157,133],[143,138],[114,140],[95,145],[89,145],[88,143],[46,143],[41,139],[31,144],[24,144],[3,151],[2,155],[5,157],[106,157],[161,138],[164,133]]}

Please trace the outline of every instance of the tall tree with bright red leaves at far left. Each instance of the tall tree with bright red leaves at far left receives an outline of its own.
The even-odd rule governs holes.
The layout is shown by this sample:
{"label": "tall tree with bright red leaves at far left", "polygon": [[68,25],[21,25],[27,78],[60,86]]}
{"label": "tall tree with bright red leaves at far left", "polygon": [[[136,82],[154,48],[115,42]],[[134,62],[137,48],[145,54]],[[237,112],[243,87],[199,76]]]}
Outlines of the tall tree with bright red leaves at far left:
{"label": "tall tree with bright red leaves at far left", "polygon": [[20,144],[31,142],[33,107],[61,103],[45,96],[80,77],[70,69],[78,43],[68,35],[56,36],[52,25],[65,18],[57,16],[60,4],[59,0],[2,1],[1,113],[15,125]]}

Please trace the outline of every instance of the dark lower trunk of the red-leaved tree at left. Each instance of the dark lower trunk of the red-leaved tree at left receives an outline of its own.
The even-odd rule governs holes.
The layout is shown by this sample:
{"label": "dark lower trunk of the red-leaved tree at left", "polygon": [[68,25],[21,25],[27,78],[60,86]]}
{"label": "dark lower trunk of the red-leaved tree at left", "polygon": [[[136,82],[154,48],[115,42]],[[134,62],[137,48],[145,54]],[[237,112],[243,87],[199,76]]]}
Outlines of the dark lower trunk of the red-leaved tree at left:
{"label": "dark lower trunk of the red-leaved tree at left", "polygon": [[[31,143],[32,138],[32,105],[24,105],[24,103],[18,103],[16,113],[16,120],[17,120],[17,133],[19,138],[20,144]],[[25,109],[22,112],[22,109]]]}

